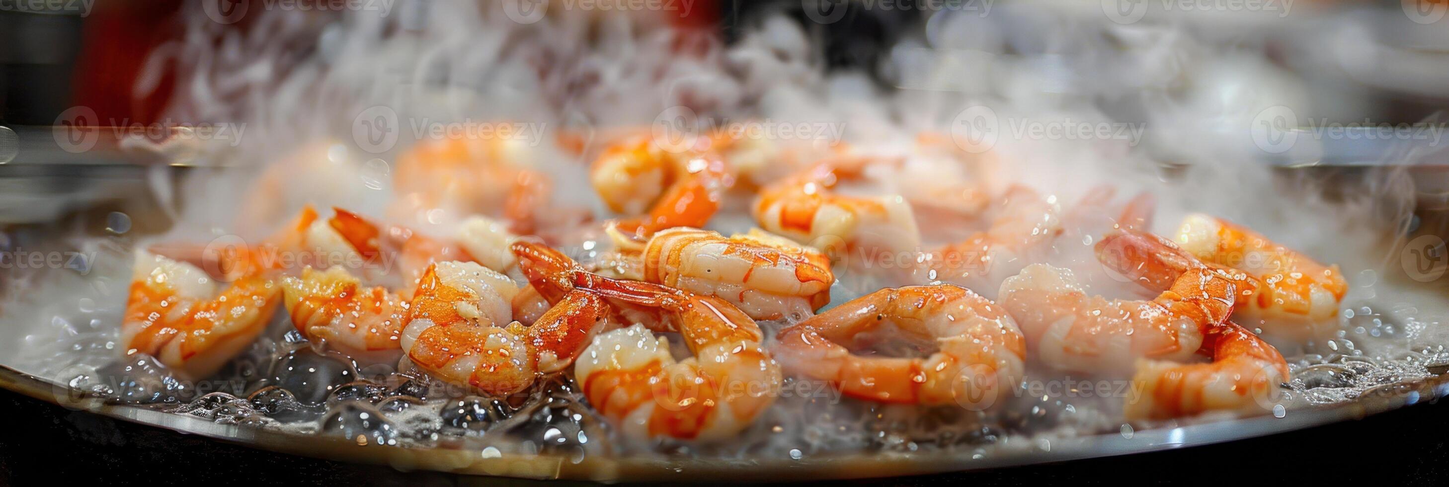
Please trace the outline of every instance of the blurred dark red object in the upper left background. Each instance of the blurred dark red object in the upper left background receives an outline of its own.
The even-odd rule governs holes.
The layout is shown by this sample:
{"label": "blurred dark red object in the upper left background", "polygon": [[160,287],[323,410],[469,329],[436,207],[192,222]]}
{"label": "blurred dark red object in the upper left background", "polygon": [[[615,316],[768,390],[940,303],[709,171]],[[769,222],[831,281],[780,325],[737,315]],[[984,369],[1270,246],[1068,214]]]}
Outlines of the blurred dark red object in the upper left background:
{"label": "blurred dark red object in the upper left background", "polygon": [[133,87],[146,57],[175,38],[183,0],[97,3],[81,35],[74,71],[74,106],[96,110],[101,125],[155,123],[171,100],[174,74],[152,93],[136,97]]}

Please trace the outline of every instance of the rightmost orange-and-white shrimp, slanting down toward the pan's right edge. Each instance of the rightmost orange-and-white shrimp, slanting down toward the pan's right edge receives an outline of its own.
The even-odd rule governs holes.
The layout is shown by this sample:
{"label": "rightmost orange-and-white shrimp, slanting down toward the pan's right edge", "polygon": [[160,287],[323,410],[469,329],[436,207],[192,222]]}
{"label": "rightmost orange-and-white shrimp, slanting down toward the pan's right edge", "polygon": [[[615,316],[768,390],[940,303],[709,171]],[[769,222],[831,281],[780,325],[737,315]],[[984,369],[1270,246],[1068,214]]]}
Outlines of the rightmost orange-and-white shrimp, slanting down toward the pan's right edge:
{"label": "rightmost orange-and-white shrimp, slanting down toward the pan's right edge", "polygon": [[1237,310],[1265,332],[1303,339],[1324,336],[1337,325],[1339,304],[1348,293],[1337,265],[1319,264],[1258,232],[1207,215],[1182,220],[1177,241],[1204,262],[1248,274],[1239,286]]}

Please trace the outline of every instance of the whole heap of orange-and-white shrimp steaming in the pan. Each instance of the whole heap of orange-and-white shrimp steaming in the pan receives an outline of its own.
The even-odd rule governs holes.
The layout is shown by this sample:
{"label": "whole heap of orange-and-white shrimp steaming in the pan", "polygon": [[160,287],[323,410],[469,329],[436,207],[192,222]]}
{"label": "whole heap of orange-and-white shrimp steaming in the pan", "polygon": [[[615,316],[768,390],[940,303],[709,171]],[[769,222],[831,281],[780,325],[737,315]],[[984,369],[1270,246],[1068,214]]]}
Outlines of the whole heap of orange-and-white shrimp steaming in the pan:
{"label": "whole heap of orange-and-white shrimp steaming in the pan", "polygon": [[[1143,391],[1123,416],[1151,422],[1271,409],[1290,370],[1258,332],[1323,336],[1348,290],[1336,265],[1224,219],[1159,236],[1148,196],[1113,219],[1111,187],[1068,204],[1003,184],[994,157],[939,135],[895,155],[617,138],[578,175],[609,210],[582,242],[546,230],[571,212],[552,199],[567,174],[520,151],[425,142],[381,215],[309,204],[255,245],[139,252],[126,354],[206,377],[280,307],[313,346],[469,394],[562,377],[626,438],[726,441],[788,378],[990,413],[1032,374],[1119,377]],[[730,209],[756,228],[716,232],[740,229],[714,226]],[[1068,241],[1087,244],[1064,264]],[[913,265],[842,286],[862,270],[852,255],[875,252]]]}

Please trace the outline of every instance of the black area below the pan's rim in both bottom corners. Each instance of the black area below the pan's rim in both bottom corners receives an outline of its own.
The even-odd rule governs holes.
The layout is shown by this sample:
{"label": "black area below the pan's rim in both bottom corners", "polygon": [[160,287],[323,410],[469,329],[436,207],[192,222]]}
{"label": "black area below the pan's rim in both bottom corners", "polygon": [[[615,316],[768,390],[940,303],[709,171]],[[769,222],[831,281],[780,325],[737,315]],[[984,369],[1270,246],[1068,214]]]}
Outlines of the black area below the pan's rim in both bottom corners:
{"label": "black area below the pan's rim in both bottom corners", "polygon": [[[401,473],[274,454],[194,435],[72,412],[0,390],[0,484],[190,484],[251,486],[480,486],[522,481]],[[1275,436],[1162,452],[1045,465],[820,484],[1072,486],[1188,483],[1213,486],[1446,486],[1449,401],[1288,432]],[[701,480],[703,481],[703,480]],[[559,486],[561,483],[549,483]]]}

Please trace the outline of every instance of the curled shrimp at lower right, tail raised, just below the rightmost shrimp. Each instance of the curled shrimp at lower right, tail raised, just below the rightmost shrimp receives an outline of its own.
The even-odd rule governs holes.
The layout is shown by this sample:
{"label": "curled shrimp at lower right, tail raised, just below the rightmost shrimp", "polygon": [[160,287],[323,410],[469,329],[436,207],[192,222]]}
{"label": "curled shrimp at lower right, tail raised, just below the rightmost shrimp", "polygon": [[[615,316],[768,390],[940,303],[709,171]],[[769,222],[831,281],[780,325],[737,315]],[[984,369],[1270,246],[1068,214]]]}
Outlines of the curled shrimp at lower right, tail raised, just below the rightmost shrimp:
{"label": "curled shrimp at lower right, tail raised, just below the rightmost shrimp", "polygon": [[[1172,286],[1187,272],[1184,268],[1203,268],[1171,241],[1145,232],[1108,235],[1097,249],[1103,262],[1151,290]],[[1232,283],[1250,283],[1240,271],[1213,271]],[[1248,293],[1239,291],[1239,301],[1243,296],[1250,297],[1252,290]],[[1261,413],[1271,407],[1268,401],[1288,380],[1282,354],[1233,322],[1206,328],[1198,354],[1211,362],[1137,361],[1133,381],[1142,384],[1146,394],[1137,400],[1129,397],[1127,419],[1165,419],[1208,410]]]}

